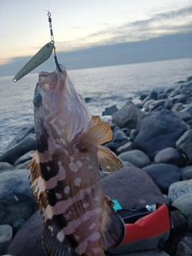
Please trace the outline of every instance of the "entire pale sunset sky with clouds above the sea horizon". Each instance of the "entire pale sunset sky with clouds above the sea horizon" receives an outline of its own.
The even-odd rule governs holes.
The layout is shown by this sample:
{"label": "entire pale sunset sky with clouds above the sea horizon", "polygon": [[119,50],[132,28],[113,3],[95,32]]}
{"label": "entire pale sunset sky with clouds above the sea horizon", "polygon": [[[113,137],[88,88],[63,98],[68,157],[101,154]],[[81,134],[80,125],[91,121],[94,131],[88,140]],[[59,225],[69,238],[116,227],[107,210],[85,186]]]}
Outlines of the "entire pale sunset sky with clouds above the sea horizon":
{"label": "entire pale sunset sky with clouds above the sea horizon", "polygon": [[[58,61],[67,69],[192,58],[191,0],[0,2],[0,76],[17,73],[50,42],[48,10]],[[53,58],[43,68],[53,70]]]}

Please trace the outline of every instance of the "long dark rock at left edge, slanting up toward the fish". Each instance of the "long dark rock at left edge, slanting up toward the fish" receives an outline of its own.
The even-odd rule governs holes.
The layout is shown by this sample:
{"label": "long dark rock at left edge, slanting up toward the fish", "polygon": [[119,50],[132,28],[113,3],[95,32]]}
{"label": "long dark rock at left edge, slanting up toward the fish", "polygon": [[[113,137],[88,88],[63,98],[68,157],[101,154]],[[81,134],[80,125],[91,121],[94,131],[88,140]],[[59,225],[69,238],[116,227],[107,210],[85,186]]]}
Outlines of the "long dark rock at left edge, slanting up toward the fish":
{"label": "long dark rock at left edge, slanting up toward the fish", "polygon": [[9,162],[13,165],[18,158],[31,150],[36,150],[36,139],[34,134],[28,134],[26,138],[21,142],[18,142],[17,145],[6,150],[6,152],[0,155],[0,162]]}

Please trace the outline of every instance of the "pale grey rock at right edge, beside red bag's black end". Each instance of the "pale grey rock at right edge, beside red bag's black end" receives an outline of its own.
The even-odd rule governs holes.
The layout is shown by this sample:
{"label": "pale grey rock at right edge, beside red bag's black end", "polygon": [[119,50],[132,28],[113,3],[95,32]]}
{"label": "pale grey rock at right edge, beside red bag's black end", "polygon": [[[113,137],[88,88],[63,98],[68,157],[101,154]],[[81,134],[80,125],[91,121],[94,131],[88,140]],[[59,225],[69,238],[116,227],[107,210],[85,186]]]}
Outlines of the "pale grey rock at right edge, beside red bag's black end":
{"label": "pale grey rock at right edge, beside red bag's black end", "polygon": [[181,197],[176,198],[172,206],[181,210],[182,214],[186,215],[188,231],[192,231],[192,194],[183,194]]}

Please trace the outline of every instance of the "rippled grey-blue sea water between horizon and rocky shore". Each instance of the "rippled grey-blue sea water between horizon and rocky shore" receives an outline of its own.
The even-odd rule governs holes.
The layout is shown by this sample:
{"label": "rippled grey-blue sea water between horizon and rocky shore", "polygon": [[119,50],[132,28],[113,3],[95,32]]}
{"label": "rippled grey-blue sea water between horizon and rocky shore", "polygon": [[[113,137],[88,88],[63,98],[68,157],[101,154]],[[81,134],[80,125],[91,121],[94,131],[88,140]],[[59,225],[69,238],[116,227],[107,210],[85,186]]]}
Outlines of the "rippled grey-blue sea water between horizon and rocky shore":
{"label": "rippled grey-blue sea water between horizon and rocky shore", "polygon": [[[192,75],[192,58],[69,70],[68,74],[78,93],[91,98],[87,103],[90,113],[102,115],[108,106],[119,109],[130,99],[139,102],[143,92],[165,90],[186,80]],[[37,82],[38,74],[28,74],[16,83],[13,77],[0,78],[0,154],[23,126],[34,123]]]}

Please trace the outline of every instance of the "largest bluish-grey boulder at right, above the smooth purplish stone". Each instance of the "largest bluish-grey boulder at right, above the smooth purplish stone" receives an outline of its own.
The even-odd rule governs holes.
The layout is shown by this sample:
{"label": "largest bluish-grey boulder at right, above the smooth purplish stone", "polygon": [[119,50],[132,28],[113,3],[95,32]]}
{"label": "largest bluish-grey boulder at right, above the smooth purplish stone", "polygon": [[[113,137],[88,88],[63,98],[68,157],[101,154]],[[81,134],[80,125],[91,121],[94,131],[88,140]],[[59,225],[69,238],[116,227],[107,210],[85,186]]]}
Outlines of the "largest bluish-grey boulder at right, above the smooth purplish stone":
{"label": "largest bluish-grey boulder at right, above the smooth purplish stone", "polygon": [[175,142],[186,130],[186,122],[170,110],[162,110],[146,115],[134,144],[138,150],[142,150],[154,160],[158,151],[174,147]]}

